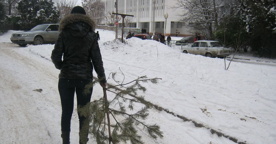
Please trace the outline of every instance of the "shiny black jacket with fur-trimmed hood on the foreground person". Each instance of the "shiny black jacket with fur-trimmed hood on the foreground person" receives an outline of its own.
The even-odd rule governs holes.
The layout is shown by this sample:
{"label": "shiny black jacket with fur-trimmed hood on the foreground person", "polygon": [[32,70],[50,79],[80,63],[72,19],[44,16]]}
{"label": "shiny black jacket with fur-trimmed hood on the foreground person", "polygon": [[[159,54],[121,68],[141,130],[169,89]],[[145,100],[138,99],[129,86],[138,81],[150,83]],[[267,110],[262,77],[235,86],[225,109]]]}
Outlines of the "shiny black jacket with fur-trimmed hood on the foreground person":
{"label": "shiny black jacket with fur-trimmed hood on the foreground person", "polygon": [[60,33],[51,56],[60,70],[59,78],[93,80],[94,66],[100,82],[106,83],[95,26],[90,16],[75,13],[59,22]]}

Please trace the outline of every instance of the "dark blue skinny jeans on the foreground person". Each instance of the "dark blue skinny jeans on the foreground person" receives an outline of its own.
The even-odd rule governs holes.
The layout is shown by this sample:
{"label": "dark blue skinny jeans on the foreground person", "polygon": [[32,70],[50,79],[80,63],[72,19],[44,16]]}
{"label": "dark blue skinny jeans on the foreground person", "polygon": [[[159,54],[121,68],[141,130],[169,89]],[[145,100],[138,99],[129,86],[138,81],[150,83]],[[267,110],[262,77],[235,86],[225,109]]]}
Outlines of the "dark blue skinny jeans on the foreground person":
{"label": "dark blue skinny jeans on the foreground person", "polygon": [[[89,84],[90,80],[67,79],[59,78],[59,95],[62,107],[61,114],[61,131],[70,131],[71,117],[74,110],[74,96],[77,95],[77,105],[83,107],[90,102],[92,90],[87,95],[83,94],[85,85]],[[79,129],[82,129],[82,124],[85,117],[79,116]]]}

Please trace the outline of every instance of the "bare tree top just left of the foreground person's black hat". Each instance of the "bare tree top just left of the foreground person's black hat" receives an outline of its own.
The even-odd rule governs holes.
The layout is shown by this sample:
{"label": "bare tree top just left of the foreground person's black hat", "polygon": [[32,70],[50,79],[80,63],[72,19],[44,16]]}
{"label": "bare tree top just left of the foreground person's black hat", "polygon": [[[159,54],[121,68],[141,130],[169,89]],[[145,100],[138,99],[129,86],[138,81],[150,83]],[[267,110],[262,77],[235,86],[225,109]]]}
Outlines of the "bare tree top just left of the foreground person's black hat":
{"label": "bare tree top just left of the foreground person's black hat", "polygon": [[53,0],[57,9],[59,10],[59,18],[70,14],[73,7],[77,5],[77,0]]}

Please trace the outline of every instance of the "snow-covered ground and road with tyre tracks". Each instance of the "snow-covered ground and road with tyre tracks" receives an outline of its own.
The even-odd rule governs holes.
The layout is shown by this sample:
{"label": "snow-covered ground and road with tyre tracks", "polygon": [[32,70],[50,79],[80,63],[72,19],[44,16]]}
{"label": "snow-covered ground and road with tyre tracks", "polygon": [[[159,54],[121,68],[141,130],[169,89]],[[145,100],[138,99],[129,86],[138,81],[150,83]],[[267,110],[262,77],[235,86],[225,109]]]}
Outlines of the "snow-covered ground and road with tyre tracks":
{"label": "snow-covered ground and road with tyre tracks", "polygon": [[[141,129],[145,143],[276,142],[276,66],[265,65],[268,61],[273,65],[275,60],[261,62],[250,57],[258,64],[232,61],[224,70],[224,59],[184,54],[180,47],[153,40],[131,38],[122,44],[114,40],[114,32],[97,30],[107,76],[117,72],[122,80],[121,70],[125,82],[144,75],[162,78],[157,85],[144,84],[148,90],[141,95],[174,115],[151,109],[147,122],[159,124],[164,138],[152,140]],[[0,36],[0,143],[61,143],[59,70],[50,60],[54,45],[19,47],[10,44],[13,32]],[[96,85],[92,99],[99,97],[102,90]],[[112,98],[111,93],[108,97]],[[205,127],[195,127],[194,122]],[[219,137],[213,130],[227,136]],[[89,137],[93,143],[93,136]],[[78,143],[76,111],[71,121],[71,143]]]}

